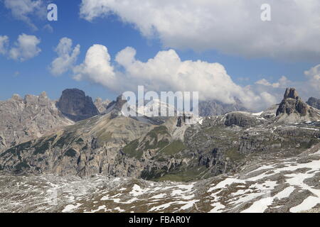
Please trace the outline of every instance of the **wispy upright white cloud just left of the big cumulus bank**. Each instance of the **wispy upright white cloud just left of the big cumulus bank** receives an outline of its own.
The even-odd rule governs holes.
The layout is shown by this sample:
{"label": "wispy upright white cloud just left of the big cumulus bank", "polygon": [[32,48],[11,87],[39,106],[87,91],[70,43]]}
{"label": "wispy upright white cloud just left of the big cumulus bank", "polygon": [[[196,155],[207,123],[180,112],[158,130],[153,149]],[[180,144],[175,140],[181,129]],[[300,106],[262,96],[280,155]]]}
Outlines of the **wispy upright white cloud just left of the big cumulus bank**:
{"label": "wispy upright white cloud just left of the big cumulus bank", "polygon": [[80,45],[73,47],[73,40],[70,38],[61,38],[58,46],[55,48],[58,57],[50,65],[50,72],[54,75],[60,75],[70,70],[78,55],[80,54]]}

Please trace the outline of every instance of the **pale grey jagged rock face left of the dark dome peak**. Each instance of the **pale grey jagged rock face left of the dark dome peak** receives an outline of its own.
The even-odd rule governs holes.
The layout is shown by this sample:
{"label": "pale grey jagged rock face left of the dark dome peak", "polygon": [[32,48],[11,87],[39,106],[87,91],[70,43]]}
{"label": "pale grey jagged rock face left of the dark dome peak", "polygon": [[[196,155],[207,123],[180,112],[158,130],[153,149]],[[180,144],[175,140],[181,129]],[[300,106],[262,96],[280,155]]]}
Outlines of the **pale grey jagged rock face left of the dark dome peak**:
{"label": "pale grey jagged rock face left of the dark dome peak", "polygon": [[46,92],[28,94],[22,99],[14,94],[0,101],[0,153],[11,146],[52,133],[56,128],[73,124],[55,107]]}

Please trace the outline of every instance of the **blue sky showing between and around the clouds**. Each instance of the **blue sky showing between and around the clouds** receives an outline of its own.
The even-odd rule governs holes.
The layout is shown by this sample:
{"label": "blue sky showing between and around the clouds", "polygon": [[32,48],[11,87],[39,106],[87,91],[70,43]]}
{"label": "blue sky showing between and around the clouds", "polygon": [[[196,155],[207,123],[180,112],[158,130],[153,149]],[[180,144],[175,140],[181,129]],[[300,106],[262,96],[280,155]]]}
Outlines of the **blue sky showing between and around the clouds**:
{"label": "blue sky showing between and around the clouds", "polygon": [[[84,77],[87,79],[80,81],[73,79],[74,72],[72,70],[68,70],[68,72],[59,76],[50,73],[49,66],[57,57],[54,50],[61,38],[73,40],[73,48],[77,44],[80,45],[80,54],[75,65],[80,65],[85,60],[87,50],[94,44],[107,47],[112,64],[114,64],[117,53],[128,46],[136,50],[135,59],[141,62],[153,58],[161,50],[172,48],[181,58],[181,62],[201,60],[209,63],[220,63],[225,67],[233,82],[240,87],[255,86],[255,82],[260,79],[266,79],[272,84],[282,76],[285,76],[291,82],[304,81],[304,71],[319,64],[320,60],[317,57],[311,59],[300,57],[297,60],[291,60],[285,57],[269,57],[268,55],[248,56],[242,52],[224,51],[223,48],[212,46],[204,48],[204,50],[197,50],[192,45],[189,48],[187,44],[180,48],[178,45],[171,44],[174,42],[163,38],[161,32],[148,37],[142,29],[139,29],[139,22],[134,21],[134,19],[133,21],[127,19],[129,23],[124,22],[124,19],[120,19],[119,16],[124,18],[125,15],[120,13],[118,15],[96,16],[93,20],[81,17],[80,4],[82,1],[80,0],[50,1],[58,6],[58,21],[48,21],[46,18],[31,13],[28,18],[38,28],[38,30],[35,30],[26,21],[14,16],[11,9],[5,6],[4,1],[0,1],[0,35],[9,37],[9,49],[14,46],[18,36],[24,33],[35,35],[36,38],[41,40],[41,43],[38,44],[41,52],[23,62],[11,59],[8,55],[0,55],[0,100],[9,99],[15,93],[23,96],[25,94],[40,94],[43,91],[46,91],[51,99],[58,99],[63,89],[73,87],[84,90],[93,99],[97,96],[102,97],[102,99],[114,99],[118,95],[117,89],[112,90],[105,84],[92,82],[88,79],[89,77]],[[42,3],[45,6],[48,5],[48,1],[42,1]],[[53,31],[44,28],[46,25],[50,25]],[[235,33],[235,35],[237,34]],[[235,39],[234,42],[236,43],[238,40]],[[238,45],[242,45],[242,43],[238,43]],[[266,48],[268,47],[266,46]],[[194,77],[196,76],[195,74]],[[290,84],[286,85],[289,86]],[[267,86],[265,89],[257,90],[272,94],[272,90],[267,89]]]}

